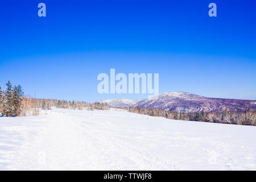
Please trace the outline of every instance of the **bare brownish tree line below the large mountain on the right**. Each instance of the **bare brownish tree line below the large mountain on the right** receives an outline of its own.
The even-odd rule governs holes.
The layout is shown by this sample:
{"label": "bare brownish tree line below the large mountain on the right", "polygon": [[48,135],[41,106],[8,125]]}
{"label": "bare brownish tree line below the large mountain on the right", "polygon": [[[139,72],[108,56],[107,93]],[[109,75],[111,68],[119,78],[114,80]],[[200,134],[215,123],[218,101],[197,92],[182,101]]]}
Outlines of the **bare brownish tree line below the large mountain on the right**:
{"label": "bare brownish tree line below the large mountain on the right", "polygon": [[145,107],[127,107],[126,110],[146,114],[155,117],[165,117],[168,119],[177,119],[184,121],[201,121],[212,123],[227,123],[234,125],[252,125],[256,126],[256,112],[248,109],[247,111],[230,111],[225,109],[224,111],[217,112],[176,112],[160,109],[150,109]]}

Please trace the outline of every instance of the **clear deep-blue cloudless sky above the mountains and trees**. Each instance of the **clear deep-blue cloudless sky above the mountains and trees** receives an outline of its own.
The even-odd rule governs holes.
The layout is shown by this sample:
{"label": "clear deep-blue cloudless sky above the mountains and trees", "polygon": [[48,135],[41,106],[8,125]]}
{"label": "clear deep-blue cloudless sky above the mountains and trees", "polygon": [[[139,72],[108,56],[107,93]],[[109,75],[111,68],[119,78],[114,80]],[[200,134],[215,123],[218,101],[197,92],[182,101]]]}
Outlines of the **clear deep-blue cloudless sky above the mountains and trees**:
{"label": "clear deep-blue cloudless sky above the mountains and trees", "polygon": [[[46,3],[46,17],[38,3]],[[208,5],[217,5],[217,17]],[[99,73],[159,73],[159,92],[256,100],[256,1],[0,2],[0,84],[94,102]]]}

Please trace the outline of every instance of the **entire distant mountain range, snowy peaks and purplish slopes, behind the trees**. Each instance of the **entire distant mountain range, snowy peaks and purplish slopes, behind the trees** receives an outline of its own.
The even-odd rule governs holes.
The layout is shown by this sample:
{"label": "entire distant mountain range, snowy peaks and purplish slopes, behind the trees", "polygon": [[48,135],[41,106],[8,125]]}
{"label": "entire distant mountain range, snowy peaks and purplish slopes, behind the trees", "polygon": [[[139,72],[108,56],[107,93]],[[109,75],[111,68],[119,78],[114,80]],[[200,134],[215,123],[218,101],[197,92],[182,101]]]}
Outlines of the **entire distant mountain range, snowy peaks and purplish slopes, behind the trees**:
{"label": "entire distant mountain range, snowy peaks and purplish slopes, behind the trees", "polygon": [[210,112],[222,111],[225,109],[232,111],[245,111],[248,109],[256,110],[256,101],[209,98],[187,92],[166,92],[142,100],[109,99],[98,102],[108,104],[110,107],[137,106],[179,112],[197,112],[201,110]]}

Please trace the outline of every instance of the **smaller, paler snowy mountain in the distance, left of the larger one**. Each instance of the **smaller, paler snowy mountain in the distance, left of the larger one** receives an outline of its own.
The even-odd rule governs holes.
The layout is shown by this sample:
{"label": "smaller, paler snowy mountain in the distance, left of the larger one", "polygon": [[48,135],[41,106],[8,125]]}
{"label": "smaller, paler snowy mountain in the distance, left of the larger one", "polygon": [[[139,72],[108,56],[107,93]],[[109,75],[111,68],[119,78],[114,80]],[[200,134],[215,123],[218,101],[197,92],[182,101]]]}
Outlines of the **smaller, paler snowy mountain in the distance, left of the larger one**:
{"label": "smaller, paler snowy mountain in the distance, left of the larger one", "polygon": [[110,107],[130,107],[133,106],[134,104],[138,103],[142,99],[137,99],[137,100],[131,100],[131,99],[108,99],[108,100],[101,100],[98,101],[100,103],[108,104]]}

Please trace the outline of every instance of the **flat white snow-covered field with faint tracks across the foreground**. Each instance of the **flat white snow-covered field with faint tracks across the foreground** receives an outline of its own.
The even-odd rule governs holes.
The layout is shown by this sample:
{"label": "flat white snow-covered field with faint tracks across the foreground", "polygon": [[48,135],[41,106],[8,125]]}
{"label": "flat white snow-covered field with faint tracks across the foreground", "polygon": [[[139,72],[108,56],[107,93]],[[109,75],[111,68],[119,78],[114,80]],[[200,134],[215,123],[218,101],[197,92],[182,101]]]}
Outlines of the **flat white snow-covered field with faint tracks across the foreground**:
{"label": "flat white snow-covered field with faint tracks across the foreground", "polygon": [[0,117],[0,169],[256,170],[256,127],[117,109]]}

